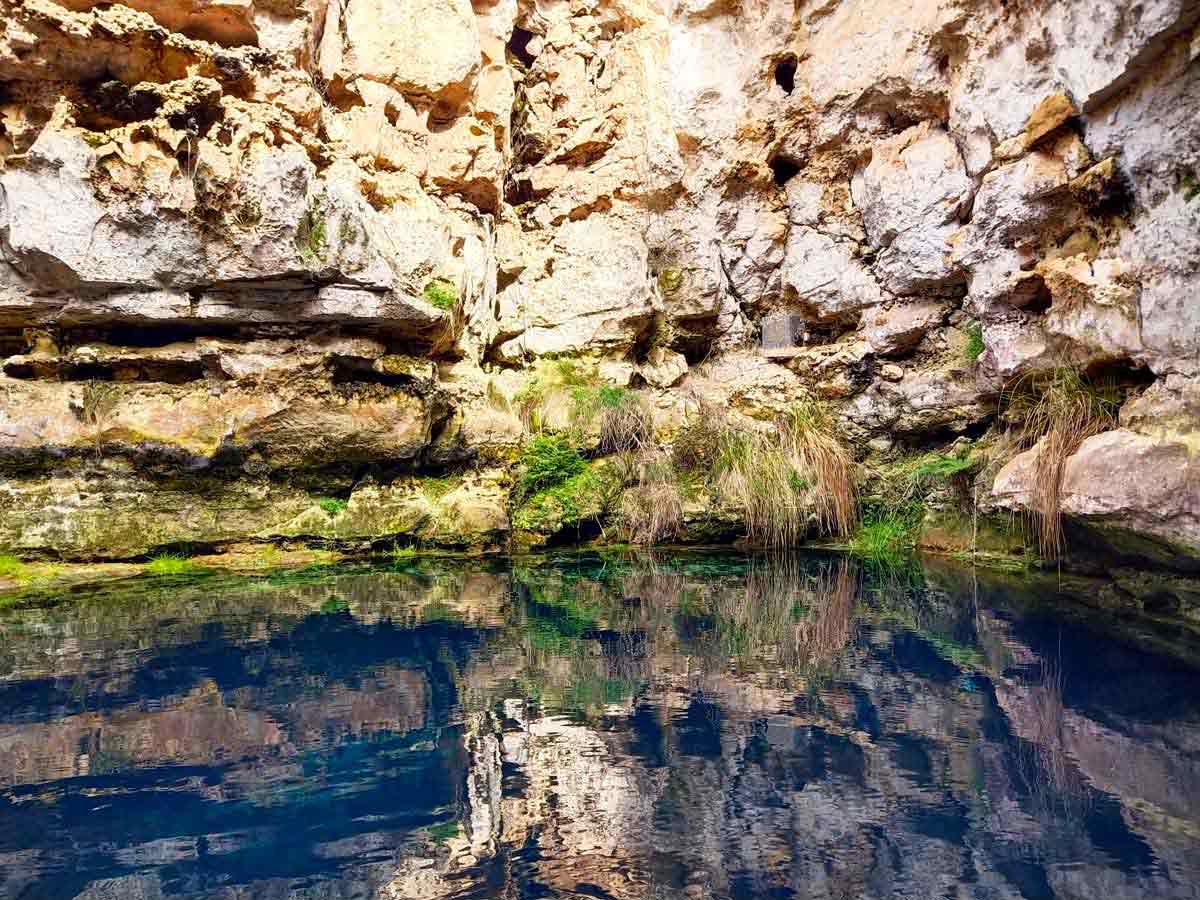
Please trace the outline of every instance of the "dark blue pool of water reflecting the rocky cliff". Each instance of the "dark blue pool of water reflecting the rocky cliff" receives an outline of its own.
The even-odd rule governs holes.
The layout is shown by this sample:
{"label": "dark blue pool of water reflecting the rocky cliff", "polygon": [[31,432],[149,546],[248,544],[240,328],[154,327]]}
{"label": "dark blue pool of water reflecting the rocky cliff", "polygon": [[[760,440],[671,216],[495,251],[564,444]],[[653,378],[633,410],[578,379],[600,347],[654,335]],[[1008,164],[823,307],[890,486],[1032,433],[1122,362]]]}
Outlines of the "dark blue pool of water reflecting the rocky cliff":
{"label": "dark blue pool of water reflecting the rocky cliff", "polygon": [[1196,648],[822,557],[125,581],[0,613],[0,898],[1196,898]]}

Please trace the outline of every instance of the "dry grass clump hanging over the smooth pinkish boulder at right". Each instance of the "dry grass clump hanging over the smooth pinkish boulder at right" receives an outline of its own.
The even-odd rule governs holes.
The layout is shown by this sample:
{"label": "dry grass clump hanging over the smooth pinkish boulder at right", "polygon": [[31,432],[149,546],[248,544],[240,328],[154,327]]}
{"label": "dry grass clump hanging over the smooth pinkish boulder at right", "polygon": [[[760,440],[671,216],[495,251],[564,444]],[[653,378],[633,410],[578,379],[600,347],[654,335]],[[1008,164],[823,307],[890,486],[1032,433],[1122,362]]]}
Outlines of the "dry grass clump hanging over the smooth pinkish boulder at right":
{"label": "dry grass clump hanging over the smooth pinkish boulder at right", "polygon": [[1038,551],[1062,552],[1062,476],[1067,460],[1087,438],[1115,427],[1120,396],[1115,385],[1093,383],[1078,368],[1061,367],[1021,379],[1008,398],[1019,422],[1018,446],[1040,445],[1030,492]]}

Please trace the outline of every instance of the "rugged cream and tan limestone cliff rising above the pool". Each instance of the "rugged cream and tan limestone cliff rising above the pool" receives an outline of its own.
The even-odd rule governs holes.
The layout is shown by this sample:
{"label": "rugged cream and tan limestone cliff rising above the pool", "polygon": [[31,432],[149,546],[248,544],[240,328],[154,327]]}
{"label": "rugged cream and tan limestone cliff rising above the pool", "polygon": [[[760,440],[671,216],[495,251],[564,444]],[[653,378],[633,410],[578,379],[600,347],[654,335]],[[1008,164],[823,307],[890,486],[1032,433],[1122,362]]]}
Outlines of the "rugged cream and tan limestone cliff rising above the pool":
{"label": "rugged cream and tan limestone cliff rising above the pool", "polygon": [[572,358],[661,450],[818,398],[859,458],[1112,378],[1064,510],[1200,553],[1195,4],[0,13],[0,550],[503,541],[517,400]]}

